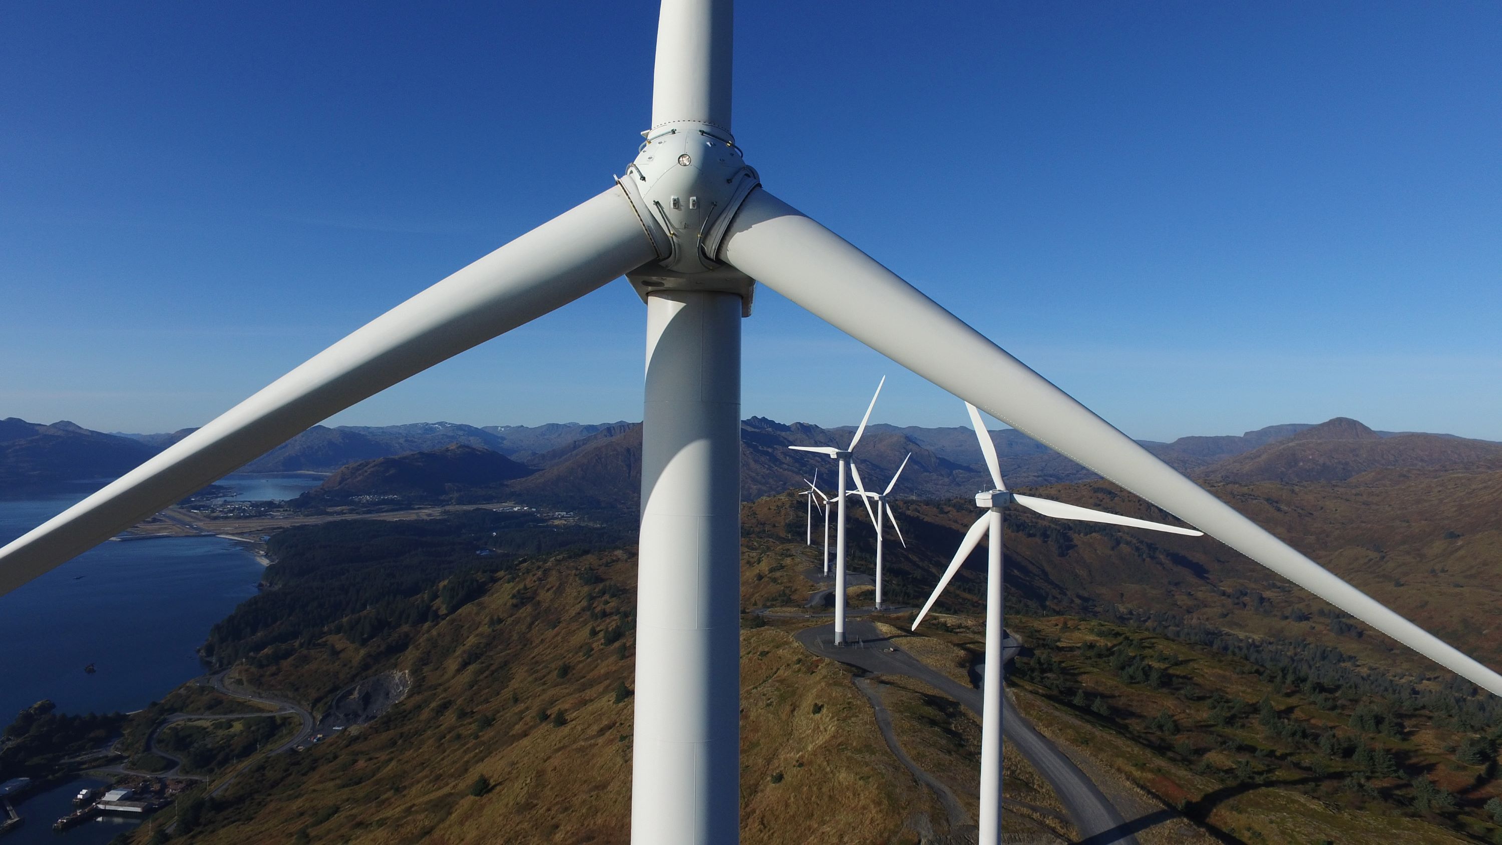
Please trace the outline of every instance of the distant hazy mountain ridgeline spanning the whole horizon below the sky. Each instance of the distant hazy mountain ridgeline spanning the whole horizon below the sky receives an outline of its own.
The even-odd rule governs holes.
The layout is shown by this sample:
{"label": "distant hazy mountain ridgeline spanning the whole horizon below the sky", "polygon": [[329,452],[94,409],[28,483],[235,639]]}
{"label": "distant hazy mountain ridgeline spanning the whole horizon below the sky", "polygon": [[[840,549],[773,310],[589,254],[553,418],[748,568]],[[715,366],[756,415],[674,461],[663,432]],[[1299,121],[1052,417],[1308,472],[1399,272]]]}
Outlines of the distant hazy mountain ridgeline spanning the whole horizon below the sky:
{"label": "distant hazy mountain ridgeline spanning the whole horizon below the sky", "polygon": [[[0,422],[0,483],[44,485],[114,477],[191,434],[102,434],[59,422]],[[843,443],[849,428],[742,423],[742,498],[802,486],[820,468],[787,446]],[[1026,435],[996,432],[1002,471],[1015,486],[1090,480],[1095,476]],[[1242,435],[1182,437],[1143,444],[1170,465],[1214,480],[1335,482],[1374,470],[1502,468],[1502,444],[1442,434],[1377,432],[1337,417],[1322,425],[1275,425]],[[966,428],[873,425],[856,459],[871,483],[885,483],[912,453],[900,497],[961,497],[985,486]],[[485,426],[412,423],[314,426],[252,461],[243,471],[333,473],[302,507],[357,500],[464,503],[512,497],[556,507],[635,509],[641,485],[638,423]]]}

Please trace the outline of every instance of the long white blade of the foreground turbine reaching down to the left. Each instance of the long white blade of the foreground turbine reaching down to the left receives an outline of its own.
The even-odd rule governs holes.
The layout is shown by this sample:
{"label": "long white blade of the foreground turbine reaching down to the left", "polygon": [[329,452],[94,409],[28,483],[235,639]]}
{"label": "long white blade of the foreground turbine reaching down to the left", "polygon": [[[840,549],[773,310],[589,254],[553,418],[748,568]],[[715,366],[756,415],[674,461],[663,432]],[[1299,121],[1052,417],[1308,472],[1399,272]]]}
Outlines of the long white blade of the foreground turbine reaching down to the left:
{"label": "long white blade of the foreground turbine reaching down to the left", "polygon": [[0,596],[354,402],[655,260],[620,188],[430,287],[0,549]]}

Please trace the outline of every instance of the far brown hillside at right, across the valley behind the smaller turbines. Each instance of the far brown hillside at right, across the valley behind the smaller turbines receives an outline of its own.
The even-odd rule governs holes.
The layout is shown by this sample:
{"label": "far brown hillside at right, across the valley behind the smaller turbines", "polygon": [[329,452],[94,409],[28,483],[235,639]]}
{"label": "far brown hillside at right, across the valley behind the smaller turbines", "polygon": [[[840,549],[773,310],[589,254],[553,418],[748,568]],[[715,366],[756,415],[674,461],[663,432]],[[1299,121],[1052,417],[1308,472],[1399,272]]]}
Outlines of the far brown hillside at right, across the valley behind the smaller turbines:
{"label": "far brown hillside at right, across the valley behind the smaller turbines", "polygon": [[[1502,473],[1376,471],[1331,483],[1208,483],[1209,489],[1293,548],[1479,660],[1502,668]],[[1172,521],[1114,485],[1056,485],[1036,492],[1084,507]],[[864,513],[858,558],[870,557]],[[921,603],[975,518],[967,503],[900,503],[909,549],[888,545],[895,600]],[[1337,635],[1335,609],[1208,537],[1179,537],[1057,522],[1008,512],[1008,606],[1032,611],[1108,608],[1173,612],[1245,636],[1335,645],[1364,660],[1433,677],[1433,663],[1365,630]],[[802,513],[798,515],[802,528]],[[940,552],[940,554],[936,554]],[[949,587],[940,609],[978,612],[984,551]],[[1263,602],[1257,602],[1257,596]],[[1299,609],[1310,618],[1289,615]],[[1358,627],[1364,627],[1356,623]]]}

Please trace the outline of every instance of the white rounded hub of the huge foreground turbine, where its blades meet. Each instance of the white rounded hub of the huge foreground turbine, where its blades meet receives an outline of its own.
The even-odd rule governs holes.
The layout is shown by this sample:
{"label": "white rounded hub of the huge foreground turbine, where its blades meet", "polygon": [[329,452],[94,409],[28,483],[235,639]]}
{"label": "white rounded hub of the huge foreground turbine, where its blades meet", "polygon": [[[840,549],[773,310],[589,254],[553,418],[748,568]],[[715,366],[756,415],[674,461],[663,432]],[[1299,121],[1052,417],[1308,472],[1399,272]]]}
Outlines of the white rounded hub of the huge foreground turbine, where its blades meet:
{"label": "white rounded hub of the huge foreground turbine, where its blades meet", "polygon": [[719,269],[715,255],[730,219],[760,185],[756,170],[719,126],[680,122],[643,135],[637,159],[619,182],[653,240],[661,267],[670,270],[665,279]]}

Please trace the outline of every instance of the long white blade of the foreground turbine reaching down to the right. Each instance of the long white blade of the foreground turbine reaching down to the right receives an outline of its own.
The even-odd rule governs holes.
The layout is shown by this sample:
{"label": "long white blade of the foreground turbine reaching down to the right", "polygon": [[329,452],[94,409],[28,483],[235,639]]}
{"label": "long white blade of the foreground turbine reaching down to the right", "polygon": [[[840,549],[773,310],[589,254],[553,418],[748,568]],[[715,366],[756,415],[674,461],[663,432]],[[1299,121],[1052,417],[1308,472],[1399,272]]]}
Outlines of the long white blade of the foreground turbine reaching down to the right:
{"label": "long white blade of the foreground turbine reaching down to the right", "polygon": [[740,206],[718,257],[939,387],[1502,695],[1502,675],[1293,551],[765,189]]}

